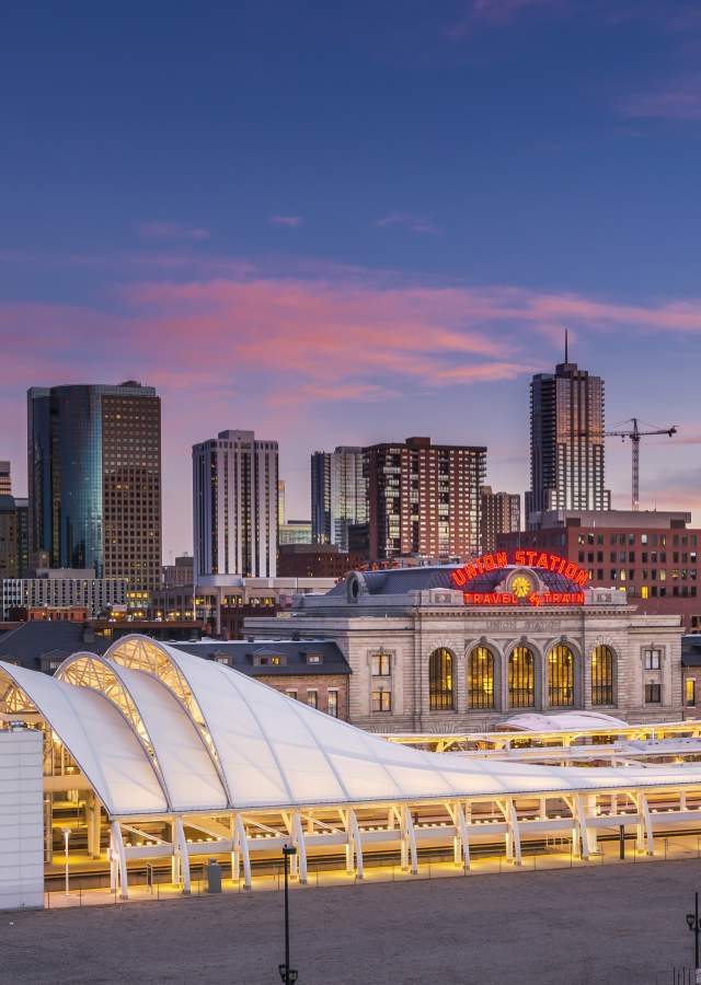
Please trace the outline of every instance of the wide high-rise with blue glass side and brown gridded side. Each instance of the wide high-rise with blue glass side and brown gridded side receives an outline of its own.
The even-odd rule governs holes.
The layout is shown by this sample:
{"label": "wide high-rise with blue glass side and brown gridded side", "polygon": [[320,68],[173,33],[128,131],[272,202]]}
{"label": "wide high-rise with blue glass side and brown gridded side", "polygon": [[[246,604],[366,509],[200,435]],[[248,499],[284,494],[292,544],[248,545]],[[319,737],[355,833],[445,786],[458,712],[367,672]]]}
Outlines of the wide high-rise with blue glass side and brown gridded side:
{"label": "wide high-rise with blue glass side and brown gridded side", "polygon": [[139,607],[161,581],[161,401],[152,386],[32,387],[30,553],[127,578]]}

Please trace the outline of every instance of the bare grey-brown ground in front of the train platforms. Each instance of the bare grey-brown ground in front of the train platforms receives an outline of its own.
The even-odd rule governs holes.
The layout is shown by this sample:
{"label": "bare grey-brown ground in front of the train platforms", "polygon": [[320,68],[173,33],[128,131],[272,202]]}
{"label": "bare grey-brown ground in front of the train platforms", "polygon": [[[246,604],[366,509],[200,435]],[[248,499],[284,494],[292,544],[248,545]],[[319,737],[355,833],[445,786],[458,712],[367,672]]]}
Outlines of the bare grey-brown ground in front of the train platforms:
{"label": "bare grey-brown ground in front of the train platforms", "polygon": [[[668,985],[701,861],[295,889],[299,985]],[[279,983],[283,895],[0,916],[0,983]],[[11,923],[13,922],[13,923]]]}

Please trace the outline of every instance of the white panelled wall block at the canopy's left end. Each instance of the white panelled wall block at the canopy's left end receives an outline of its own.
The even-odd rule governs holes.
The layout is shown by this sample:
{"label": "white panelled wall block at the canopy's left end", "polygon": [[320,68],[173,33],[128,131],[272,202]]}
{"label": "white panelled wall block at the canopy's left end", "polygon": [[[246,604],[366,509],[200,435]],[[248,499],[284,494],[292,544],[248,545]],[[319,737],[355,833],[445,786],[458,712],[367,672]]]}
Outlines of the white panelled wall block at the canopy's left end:
{"label": "white panelled wall block at the canopy's left end", "polygon": [[0,730],[0,909],[44,905],[42,742]]}

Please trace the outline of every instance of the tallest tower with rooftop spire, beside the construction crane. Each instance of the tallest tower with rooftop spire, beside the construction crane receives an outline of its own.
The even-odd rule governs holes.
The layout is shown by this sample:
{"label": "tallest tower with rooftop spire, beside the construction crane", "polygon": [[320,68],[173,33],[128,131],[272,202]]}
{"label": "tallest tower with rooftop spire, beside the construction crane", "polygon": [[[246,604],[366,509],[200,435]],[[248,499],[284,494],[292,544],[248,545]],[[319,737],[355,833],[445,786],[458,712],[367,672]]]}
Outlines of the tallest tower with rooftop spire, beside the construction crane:
{"label": "tallest tower with rooftop spire, beside the construction crane", "polygon": [[530,384],[526,522],[550,510],[608,510],[604,488],[604,380],[565,361]]}

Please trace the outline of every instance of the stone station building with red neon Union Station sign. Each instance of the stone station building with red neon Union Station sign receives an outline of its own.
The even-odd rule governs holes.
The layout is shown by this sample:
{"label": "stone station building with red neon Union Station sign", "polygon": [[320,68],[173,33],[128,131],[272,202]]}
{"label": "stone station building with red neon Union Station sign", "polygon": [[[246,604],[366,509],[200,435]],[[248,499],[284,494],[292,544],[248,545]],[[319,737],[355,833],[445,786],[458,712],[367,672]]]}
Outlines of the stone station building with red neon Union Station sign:
{"label": "stone station building with red neon Union Station sign", "polygon": [[680,617],[640,614],[587,582],[559,555],[499,551],[355,571],[245,626],[271,652],[274,640],[335,644],[352,671],[349,720],[374,731],[487,730],[524,710],[681,718]]}

